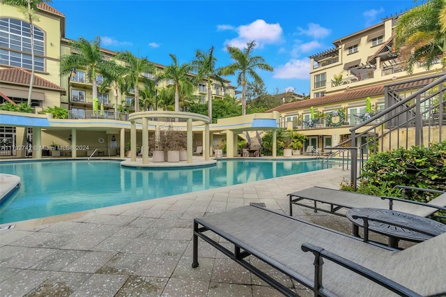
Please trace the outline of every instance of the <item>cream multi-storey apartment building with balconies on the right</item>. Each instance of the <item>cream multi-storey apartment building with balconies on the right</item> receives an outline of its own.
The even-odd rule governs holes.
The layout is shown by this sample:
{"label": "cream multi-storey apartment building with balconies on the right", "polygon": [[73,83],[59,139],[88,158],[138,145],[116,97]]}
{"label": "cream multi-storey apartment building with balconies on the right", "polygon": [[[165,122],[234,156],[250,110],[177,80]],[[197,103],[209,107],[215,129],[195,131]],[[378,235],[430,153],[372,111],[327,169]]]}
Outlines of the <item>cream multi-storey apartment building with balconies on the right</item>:
{"label": "cream multi-storey apartment building with balconies on the right", "polygon": [[[270,111],[280,113],[281,127],[298,129],[307,135],[307,146],[321,151],[350,137],[349,129],[385,109],[386,84],[398,83],[436,73],[441,57],[426,70],[419,61],[408,73],[393,47],[394,27],[399,15],[344,36],[333,47],[309,56],[310,96]],[[401,86],[402,88],[402,86]],[[416,84],[404,86],[410,94]],[[411,89],[412,88],[412,89]],[[379,120],[377,120],[379,121]]]}

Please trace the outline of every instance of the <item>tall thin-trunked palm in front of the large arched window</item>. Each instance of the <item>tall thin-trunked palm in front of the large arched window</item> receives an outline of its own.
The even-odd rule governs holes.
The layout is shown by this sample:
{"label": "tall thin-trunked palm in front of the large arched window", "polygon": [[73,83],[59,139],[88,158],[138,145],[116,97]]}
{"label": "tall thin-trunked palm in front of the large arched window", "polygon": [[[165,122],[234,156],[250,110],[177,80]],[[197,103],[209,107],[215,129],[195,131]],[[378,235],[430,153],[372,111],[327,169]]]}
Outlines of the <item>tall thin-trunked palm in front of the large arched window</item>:
{"label": "tall thin-trunked palm in front of the large arched window", "polygon": [[[3,0],[1,3],[15,6],[22,10],[29,22],[29,36],[31,39],[31,77],[29,79],[28,106],[31,106],[31,96],[34,84],[34,22],[38,22],[36,11],[40,3],[51,3],[52,0]],[[25,129],[26,130],[26,129]]]}

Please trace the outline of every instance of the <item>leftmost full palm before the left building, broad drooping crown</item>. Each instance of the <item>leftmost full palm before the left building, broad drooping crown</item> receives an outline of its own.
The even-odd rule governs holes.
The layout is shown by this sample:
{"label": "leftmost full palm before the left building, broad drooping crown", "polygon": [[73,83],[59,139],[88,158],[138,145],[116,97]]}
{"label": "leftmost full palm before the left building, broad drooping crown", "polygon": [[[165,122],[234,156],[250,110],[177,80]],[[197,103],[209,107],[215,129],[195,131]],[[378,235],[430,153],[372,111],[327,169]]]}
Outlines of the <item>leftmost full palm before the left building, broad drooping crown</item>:
{"label": "leftmost full palm before the left building, broad drooping crown", "polygon": [[85,68],[86,78],[93,84],[93,100],[98,97],[98,80],[96,73],[102,73],[106,65],[104,54],[100,50],[100,37],[94,40],[86,40],[79,37],[78,40],[70,41],[70,46],[77,54],[66,54],[61,56],[60,74],[68,75],[72,68]]}

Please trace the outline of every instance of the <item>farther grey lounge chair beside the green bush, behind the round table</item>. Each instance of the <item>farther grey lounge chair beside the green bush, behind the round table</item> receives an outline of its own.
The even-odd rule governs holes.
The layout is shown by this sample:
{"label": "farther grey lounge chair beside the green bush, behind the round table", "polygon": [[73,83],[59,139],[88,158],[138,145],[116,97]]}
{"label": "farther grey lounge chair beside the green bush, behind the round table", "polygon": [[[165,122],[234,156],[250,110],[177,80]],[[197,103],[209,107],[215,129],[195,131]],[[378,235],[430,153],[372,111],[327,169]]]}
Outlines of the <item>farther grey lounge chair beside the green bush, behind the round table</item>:
{"label": "farther grey lounge chair beside the green bush, behind the round table", "polygon": [[[322,187],[312,187],[305,190],[300,190],[289,194],[290,199],[290,215],[293,215],[293,204],[298,206],[305,206],[314,209],[315,212],[323,211],[325,213],[332,213],[334,215],[345,216],[345,208],[388,208],[394,211],[402,211],[403,213],[411,213],[413,215],[420,215],[421,217],[428,217],[433,215],[439,209],[446,210],[446,193],[438,190],[420,189],[405,186],[398,186],[404,190],[424,190],[427,192],[443,193],[424,204],[417,201],[410,201],[407,199],[399,199],[394,197],[377,197],[372,195],[365,195],[356,192],[348,192],[341,190],[333,190]],[[302,200],[312,201],[312,204],[302,203]],[[386,201],[387,200],[387,201]],[[330,208],[322,208],[319,204],[329,204]]]}

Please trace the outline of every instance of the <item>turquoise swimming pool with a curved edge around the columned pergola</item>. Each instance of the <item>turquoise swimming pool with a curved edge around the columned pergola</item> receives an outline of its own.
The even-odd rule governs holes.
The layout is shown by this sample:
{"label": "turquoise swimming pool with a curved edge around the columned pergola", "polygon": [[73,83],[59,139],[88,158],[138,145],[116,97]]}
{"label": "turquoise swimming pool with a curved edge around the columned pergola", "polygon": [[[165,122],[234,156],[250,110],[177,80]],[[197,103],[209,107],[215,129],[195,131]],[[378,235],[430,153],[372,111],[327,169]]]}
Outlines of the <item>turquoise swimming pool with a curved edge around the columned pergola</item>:
{"label": "turquoise swimming pool with a curved edge around the columned pergola", "polygon": [[321,160],[219,160],[217,165],[134,169],[117,161],[1,162],[22,179],[0,223],[73,213],[322,169]]}

